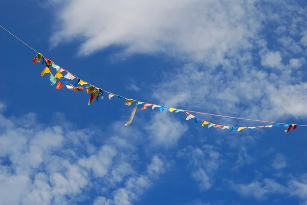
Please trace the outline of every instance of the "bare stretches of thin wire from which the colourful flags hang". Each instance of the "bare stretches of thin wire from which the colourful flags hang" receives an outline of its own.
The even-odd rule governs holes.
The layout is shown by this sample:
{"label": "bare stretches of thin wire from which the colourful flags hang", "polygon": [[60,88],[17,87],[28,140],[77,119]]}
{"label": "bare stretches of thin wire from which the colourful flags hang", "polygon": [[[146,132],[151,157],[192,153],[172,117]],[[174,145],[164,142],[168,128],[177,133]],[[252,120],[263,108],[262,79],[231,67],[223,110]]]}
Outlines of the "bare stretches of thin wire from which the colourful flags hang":
{"label": "bare stretches of thin wire from which the colourful flags hang", "polygon": [[[30,45],[28,45],[27,43],[25,43],[23,40],[19,39],[17,36],[15,36],[14,34],[12,34],[11,32],[9,32],[8,30],[6,30],[3,26],[0,25],[1,28],[3,28],[6,32],[8,32],[9,34],[11,34],[12,36],[14,36],[16,39],[18,39],[20,42],[24,43],[25,45],[27,45],[27,47],[29,47],[30,49],[32,49],[34,52],[38,53],[35,49],[33,49],[32,47],[30,47]],[[68,72],[67,70],[63,69],[64,71]],[[68,72],[70,73],[70,72]],[[72,73],[70,73],[72,74]],[[73,74],[72,74],[73,75]],[[75,75],[73,75],[75,76]],[[78,78],[77,76],[75,76],[76,78]],[[81,79],[81,78],[79,78]],[[101,89],[101,88],[100,88]],[[112,94],[114,96],[118,96],[121,97],[119,95],[107,92],[106,90],[104,90],[104,92],[108,93],[108,94]],[[137,101],[137,100],[135,100]],[[139,102],[139,101],[137,101]],[[151,104],[151,103],[150,103]],[[231,116],[223,116],[223,115],[215,115],[212,113],[206,113],[206,112],[198,112],[198,111],[192,111],[192,110],[185,110],[187,112],[193,112],[193,113],[199,113],[202,115],[208,115],[208,116],[216,116],[216,117],[223,117],[223,118],[232,118],[232,119],[238,119],[238,120],[247,120],[247,121],[254,121],[254,122],[265,122],[265,123],[272,123],[272,124],[286,124],[286,123],[278,123],[278,122],[270,122],[270,121],[264,121],[264,120],[254,120],[254,119],[247,119],[247,118],[237,118],[237,117],[231,117]],[[297,126],[303,126],[303,127],[307,127],[307,125],[297,125]]]}

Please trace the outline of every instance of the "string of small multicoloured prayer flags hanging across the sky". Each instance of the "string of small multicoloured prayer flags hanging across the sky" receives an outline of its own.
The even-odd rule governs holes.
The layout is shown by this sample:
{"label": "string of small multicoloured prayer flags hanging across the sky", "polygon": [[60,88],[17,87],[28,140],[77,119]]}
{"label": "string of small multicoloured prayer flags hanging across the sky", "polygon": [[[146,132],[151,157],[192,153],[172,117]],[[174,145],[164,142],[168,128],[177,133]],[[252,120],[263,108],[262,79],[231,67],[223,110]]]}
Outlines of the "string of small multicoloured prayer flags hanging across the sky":
{"label": "string of small multicoloured prayer flags hanging across the sky", "polygon": [[[40,62],[40,61],[42,61],[41,62],[42,64],[44,64],[44,63],[46,64],[46,67],[41,72],[40,76],[44,76],[45,74],[50,74],[51,85],[56,84],[55,89],[61,89],[62,87],[66,86],[68,89],[74,90],[74,92],[76,92],[76,93],[86,92],[87,94],[90,94],[90,99],[89,99],[88,105],[91,105],[95,99],[98,102],[100,94],[101,94],[101,99],[103,99],[103,92],[108,94],[109,100],[111,100],[111,98],[113,98],[114,96],[117,96],[119,99],[124,99],[124,104],[127,105],[127,106],[130,106],[133,102],[136,102],[135,107],[133,108],[133,110],[131,112],[130,118],[127,121],[127,123],[125,124],[126,127],[129,126],[131,124],[131,122],[133,121],[137,107],[138,107],[138,105],[141,105],[141,104],[143,104],[141,110],[144,110],[148,106],[151,106],[151,109],[155,109],[156,107],[158,107],[160,112],[164,111],[165,109],[167,109],[169,112],[175,112],[175,113],[184,112],[185,115],[187,116],[186,120],[190,120],[190,119],[194,118],[195,119],[194,123],[199,123],[199,122],[202,121],[202,127],[204,127],[205,125],[208,125],[208,128],[213,127],[215,129],[219,128],[221,130],[229,129],[230,131],[235,129],[239,132],[239,131],[242,131],[244,129],[272,128],[274,126],[274,125],[262,125],[262,126],[253,126],[253,127],[246,127],[246,126],[238,127],[238,126],[227,126],[227,125],[215,124],[215,123],[197,118],[194,115],[192,115],[191,113],[189,113],[189,111],[184,110],[184,109],[178,109],[178,108],[173,108],[173,107],[156,105],[156,104],[147,103],[147,102],[140,102],[140,101],[125,98],[125,97],[122,97],[122,96],[119,96],[119,95],[116,95],[116,94],[113,94],[113,93],[109,93],[105,90],[102,90],[99,87],[96,87],[96,86],[94,86],[90,83],[87,83],[86,81],[76,77],[75,75],[71,74],[69,71],[64,70],[59,65],[56,65],[53,61],[49,60],[46,57],[43,57],[40,53],[37,53],[37,55],[33,58],[33,63],[35,64],[36,62]],[[53,75],[52,72],[50,71],[50,66],[52,66],[56,70],[55,75]],[[66,74],[63,74],[63,72],[66,72]],[[74,84],[69,82],[69,80],[75,80],[75,79],[77,79],[77,82],[75,82]],[[89,84],[89,86],[85,87],[86,88],[85,90],[84,90],[84,87],[78,86],[78,85],[87,85],[87,84]],[[191,111],[191,112],[193,112],[193,111]],[[198,113],[202,113],[202,112],[198,112]],[[207,114],[207,113],[203,113],[203,114]],[[213,115],[213,114],[209,114],[209,115]],[[227,116],[220,116],[220,117],[227,117]],[[233,117],[228,117],[228,118],[233,118]],[[242,120],[246,120],[246,119],[242,119]],[[261,122],[266,122],[266,121],[261,121]],[[282,123],[276,123],[274,127],[281,127],[281,126],[287,127],[287,129],[284,130],[284,132],[286,132],[286,133],[288,133],[291,130],[291,128],[293,130],[295,130],[297,128],[296,124],[282,124]]]}

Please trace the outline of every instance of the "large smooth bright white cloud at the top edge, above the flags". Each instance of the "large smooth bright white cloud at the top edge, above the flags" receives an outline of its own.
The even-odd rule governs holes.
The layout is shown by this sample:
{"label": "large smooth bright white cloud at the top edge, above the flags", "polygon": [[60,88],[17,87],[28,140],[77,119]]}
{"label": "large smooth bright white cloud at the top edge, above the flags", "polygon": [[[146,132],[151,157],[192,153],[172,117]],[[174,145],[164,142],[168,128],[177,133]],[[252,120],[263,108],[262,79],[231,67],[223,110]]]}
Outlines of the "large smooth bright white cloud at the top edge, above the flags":
{"label": "large smooth bright white cloud at the top edge, above the flags", "polygon": [[215,63],[233,48],[250,46],[248,39],[254,37],[261,18],[256,15],[255,3],[69,1],[57,15],[61,29],[54,33],[52,42],[82,36],[80,54],[117,44],[123,45],[126,53],[180,53]]}

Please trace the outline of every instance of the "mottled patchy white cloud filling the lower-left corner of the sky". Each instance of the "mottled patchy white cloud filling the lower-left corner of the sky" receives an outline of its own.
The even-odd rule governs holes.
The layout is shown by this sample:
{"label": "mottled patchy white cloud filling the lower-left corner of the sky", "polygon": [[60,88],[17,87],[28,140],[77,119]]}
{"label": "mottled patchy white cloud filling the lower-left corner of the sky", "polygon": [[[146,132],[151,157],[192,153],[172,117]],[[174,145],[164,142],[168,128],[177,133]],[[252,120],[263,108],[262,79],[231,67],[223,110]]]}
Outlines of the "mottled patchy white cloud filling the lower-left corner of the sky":
{"label": "mottled patchy white cloud filling the lower-left corner of the sky", "polygon": [[[31,123],[25,125],[24,119]],[[153,155],[147,165],[139,159],[135,146],[140,131],[129,127],[137,130],[131,136],[124,123],[122,128],[118,123],[111,125],[105,132],[107,140],[92,145],[94,148],[91,138],[101,130],[48,127],[33,114],[20,118],[0,115],[0,124],[0,156],[8,161],[0,161],[0,201],[4,205],[72,204],[86,199],[86,192],[94,187],[96,204],[131,204],[169,170],[163,155]],[[126,146],[115,139],[122,139]],[[140,162],[147,169],[139,170]]]}

